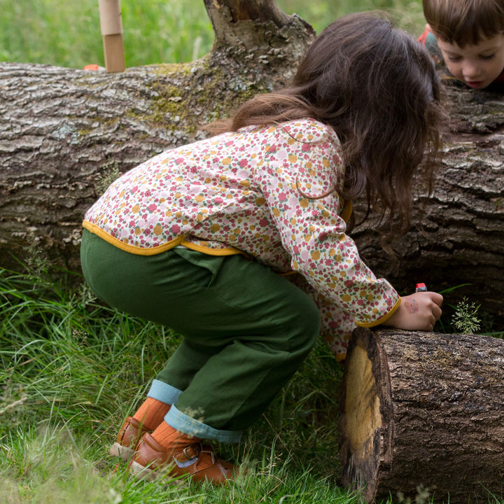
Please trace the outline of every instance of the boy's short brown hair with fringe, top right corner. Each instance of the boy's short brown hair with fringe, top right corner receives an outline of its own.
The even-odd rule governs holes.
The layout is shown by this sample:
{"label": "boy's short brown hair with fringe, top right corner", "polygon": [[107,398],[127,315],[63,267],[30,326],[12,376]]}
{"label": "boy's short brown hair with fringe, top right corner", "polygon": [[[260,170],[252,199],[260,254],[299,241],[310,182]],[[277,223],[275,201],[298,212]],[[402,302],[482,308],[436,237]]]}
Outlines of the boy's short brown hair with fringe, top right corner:
{"label": "boy's short brown hair with fringe, top right corner", "polygon": [[422,4],[433,34],[461,48],[504,33],[504,0],[422,0]]}

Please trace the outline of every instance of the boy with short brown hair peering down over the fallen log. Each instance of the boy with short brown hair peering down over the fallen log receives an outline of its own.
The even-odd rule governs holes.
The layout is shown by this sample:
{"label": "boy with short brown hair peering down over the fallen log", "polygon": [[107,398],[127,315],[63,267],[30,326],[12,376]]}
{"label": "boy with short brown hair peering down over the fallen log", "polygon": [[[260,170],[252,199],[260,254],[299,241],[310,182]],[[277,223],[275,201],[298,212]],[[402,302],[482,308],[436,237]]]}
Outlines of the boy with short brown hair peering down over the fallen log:
{"label": "boy with short brown hair peering down over the fallen log", "polygon": [[419,41],[451,78],[475,89],[504,85],[504,0],[423,0]]}

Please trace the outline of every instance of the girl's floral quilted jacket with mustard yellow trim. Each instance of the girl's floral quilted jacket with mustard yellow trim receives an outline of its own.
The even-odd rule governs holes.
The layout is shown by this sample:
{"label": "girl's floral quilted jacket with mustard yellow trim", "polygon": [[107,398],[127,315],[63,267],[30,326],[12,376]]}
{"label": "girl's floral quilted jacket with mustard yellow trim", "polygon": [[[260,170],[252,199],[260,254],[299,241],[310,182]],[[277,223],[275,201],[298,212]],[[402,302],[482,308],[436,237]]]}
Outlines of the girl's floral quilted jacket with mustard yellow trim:
{"label": "girl's floral quilted jacket with mustard yellow trim", "polygon": [[186,246],[247,253],[279,273],[299,272],[327,314],[325,339],[344,354],[355,323],[385,321],[400,297],[345,234],[351,205],[338,196],[343,180],[332,128],[309,119],[244,127],[130,170],[87,211],[83,225],[130,253]]}

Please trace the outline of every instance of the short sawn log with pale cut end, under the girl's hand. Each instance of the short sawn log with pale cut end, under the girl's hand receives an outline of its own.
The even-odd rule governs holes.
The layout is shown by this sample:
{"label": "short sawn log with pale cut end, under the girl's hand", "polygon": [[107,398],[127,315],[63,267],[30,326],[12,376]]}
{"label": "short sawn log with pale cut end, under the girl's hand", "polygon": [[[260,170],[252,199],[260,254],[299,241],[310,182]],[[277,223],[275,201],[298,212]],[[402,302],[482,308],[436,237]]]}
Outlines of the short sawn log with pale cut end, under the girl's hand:
{"label": "short sawn log with pale cut end, under the girl's hand", "polygon": [[339,421],[344,485],[368,503],[501,498],[503,356],[493,337],[356,329]]}

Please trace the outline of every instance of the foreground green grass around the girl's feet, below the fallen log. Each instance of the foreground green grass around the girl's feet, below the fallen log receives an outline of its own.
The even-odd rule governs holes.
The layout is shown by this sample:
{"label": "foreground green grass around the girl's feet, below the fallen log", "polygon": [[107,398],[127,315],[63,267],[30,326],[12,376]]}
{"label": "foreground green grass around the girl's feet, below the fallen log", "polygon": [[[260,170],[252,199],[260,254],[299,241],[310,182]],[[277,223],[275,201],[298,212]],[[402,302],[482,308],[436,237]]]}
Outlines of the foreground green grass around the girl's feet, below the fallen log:
{"label": "foreground green grass around the girl's feet, below the fallen log", "polygon": [[[42,277],[43,277],[42,273]],[[342,367],[323,343],[239,444],[225,488],[128,477],[108,449],[180,337],[87,288],[0,270],[1,503],[353,503],[337,485]]]}

